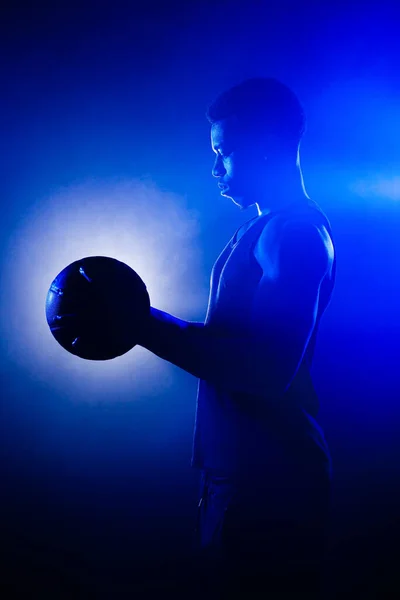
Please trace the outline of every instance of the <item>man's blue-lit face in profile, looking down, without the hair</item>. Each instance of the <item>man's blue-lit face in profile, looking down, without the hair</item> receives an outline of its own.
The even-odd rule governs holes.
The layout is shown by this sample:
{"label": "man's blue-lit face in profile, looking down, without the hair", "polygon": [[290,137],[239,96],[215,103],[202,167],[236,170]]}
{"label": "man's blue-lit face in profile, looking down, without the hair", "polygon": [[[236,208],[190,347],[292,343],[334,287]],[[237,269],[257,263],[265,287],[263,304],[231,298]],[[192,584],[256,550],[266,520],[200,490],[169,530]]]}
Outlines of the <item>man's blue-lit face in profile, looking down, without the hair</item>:
{"label": "man's blue-lit face in profile, looking down, without the hair", "polygon": [[216,154],[212,174],[221,195],[245,209],[257,202],[265,181],[265,159],[260,144],[240,130],[234,117],[214,123],[211,146]]}

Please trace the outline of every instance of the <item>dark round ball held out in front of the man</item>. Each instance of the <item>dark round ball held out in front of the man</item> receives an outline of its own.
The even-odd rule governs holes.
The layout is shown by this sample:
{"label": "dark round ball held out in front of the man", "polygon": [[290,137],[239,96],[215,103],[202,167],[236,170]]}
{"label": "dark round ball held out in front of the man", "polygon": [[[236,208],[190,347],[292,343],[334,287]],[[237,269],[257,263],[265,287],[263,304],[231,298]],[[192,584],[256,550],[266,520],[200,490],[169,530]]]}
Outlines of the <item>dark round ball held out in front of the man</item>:
{"label": "dark round ball held out in front of the man", "polygon": [[150,298],[131,267],[89,256],[57,275],[45,311],[52,335],[65,350],[87,360],[110,360],[136,346],[150,315]]}

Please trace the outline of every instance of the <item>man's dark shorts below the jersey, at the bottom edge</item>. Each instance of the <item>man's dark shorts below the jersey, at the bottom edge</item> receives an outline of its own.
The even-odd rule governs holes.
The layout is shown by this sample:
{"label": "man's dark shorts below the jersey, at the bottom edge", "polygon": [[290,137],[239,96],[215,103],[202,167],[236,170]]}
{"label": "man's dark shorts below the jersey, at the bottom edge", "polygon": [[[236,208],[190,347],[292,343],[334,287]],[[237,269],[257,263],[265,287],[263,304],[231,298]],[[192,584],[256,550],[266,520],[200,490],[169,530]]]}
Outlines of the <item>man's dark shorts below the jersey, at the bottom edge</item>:
{"label": "man's dark shorts below the jersey, at the bottom edge", "polygon": [[207,598],[319,598],[329,483],[253,476],[238,484],[202,472],[195,551]]}

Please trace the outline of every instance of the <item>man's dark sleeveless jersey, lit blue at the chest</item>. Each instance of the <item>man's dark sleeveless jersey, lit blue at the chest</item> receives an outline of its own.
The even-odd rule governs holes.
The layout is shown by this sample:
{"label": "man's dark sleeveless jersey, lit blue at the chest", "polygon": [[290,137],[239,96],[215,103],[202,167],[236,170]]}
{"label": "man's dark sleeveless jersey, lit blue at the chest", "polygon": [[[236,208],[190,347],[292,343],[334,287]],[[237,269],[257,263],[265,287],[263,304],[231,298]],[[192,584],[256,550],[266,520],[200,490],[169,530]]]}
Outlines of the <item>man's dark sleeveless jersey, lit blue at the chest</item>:
{"label": "man's dark sleeveless jersey, lit blue at the chest", "polygon": [[[254,247],[266,223],[277,214],[302,214],[325,226],[330,223],[309,201],[302,207],[275,211],[252,219],[240,239],[237,230],[214,264],[205,324],[215,333],[240,333],[248,327],[254,292],[262,270]],[[332,241],[333,243],[333,241]],[[245,393],[227,393],[199,380],[193,439],[192,466],[216,474],[279,470],[288,461],[314,462],[331,470],[329,449],[316,421],[319,401],[311,378],[311,365],[321,317],[334,288],[336,253],[332,272],[320,288],[315,327],[298,371],[277,402]]]}

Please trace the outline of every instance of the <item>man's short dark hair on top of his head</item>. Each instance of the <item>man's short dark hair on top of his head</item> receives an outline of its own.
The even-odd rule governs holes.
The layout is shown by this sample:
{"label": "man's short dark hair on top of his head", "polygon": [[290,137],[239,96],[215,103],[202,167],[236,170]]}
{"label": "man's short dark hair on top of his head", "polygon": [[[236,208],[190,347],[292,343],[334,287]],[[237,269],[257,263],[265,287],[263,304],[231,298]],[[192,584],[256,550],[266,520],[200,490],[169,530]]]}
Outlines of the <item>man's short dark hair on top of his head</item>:
{"label": "man's short dark hair on top of his head", "polygon": [[235,116],[246,129],[275,134],[296,146],[306,129],[296,94],[269,77],[247,79],[223,92],[208,106],[206,116],[210,123]]}

